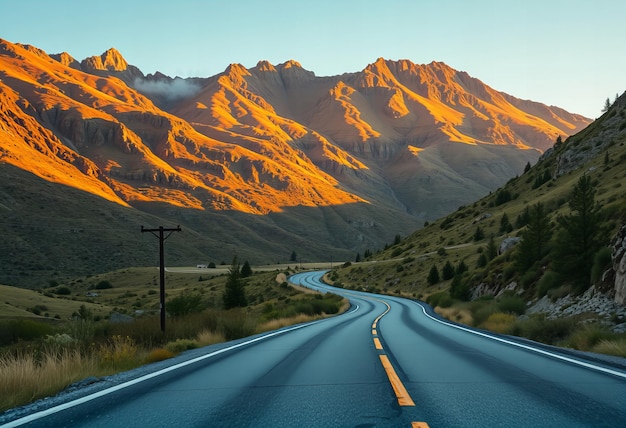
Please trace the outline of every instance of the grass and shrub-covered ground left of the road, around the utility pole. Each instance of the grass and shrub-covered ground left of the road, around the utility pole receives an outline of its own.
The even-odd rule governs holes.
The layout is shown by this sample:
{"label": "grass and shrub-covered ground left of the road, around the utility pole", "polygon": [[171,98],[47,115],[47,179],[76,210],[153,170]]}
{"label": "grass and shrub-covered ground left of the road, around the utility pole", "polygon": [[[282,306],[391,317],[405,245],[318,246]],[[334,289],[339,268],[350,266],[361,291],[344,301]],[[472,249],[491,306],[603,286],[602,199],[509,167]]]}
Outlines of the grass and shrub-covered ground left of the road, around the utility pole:
{"label": "grass and shrub-covered ground left of the road, around the utility pole", "polygon": [[[255,274],[247,266],[242,269],[235,259],[227,274],[215,277],[168,273],[165,332],[154,269],[125,269],[39,291],[5,287],[15,294],[3,294],[4,304],[20,316],[0,320],[0,411],[83,379],[334,315],[348,306],[339,296],[290,286],[286,278],[292,272]],[[229,298],[232,289],[236,301]]]}

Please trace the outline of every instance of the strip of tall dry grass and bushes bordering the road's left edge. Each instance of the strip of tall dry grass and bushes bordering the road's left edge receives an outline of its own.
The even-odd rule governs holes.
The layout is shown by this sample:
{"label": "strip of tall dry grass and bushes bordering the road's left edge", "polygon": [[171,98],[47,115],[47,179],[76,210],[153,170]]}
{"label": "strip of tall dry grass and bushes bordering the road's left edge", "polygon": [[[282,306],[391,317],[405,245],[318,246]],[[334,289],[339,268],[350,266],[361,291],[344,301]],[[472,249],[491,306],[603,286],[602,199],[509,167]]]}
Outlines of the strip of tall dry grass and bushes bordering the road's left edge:
{"label": "strip of tall dry grass and bushes bordering the road's left edge", "polygon": [[[290,317],[261,322],[249,309],[210,311],[168,319],[165,332],[156,317],[128,324],[74,321],[54,335],[38,323],[10,324],[10,334],[1,337],[11,347],[0,352],[0,411],[53,395],[89,376],[106,376],[188,349],[311,321],[347,306],[338,296],[307,296],[281,310],[292,313]],[[23,342],[24,338],[35,341]]]}

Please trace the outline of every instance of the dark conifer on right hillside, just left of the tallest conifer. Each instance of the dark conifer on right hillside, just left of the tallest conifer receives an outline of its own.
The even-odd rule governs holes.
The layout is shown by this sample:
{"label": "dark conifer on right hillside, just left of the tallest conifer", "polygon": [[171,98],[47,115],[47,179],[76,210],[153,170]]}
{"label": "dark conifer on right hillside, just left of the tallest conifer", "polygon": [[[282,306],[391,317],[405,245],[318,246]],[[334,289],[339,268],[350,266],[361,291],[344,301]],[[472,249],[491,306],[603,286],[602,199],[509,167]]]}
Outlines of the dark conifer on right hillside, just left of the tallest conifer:
{"label": "dark conifer on right hillside, just left of the tallest conifer", "polygon": [[552,237],[552,224],[541,202],[533,205],[529,212],[528,225],[522,234],[517,251],[517,266],[520,271],[530,268],[548,253]]}

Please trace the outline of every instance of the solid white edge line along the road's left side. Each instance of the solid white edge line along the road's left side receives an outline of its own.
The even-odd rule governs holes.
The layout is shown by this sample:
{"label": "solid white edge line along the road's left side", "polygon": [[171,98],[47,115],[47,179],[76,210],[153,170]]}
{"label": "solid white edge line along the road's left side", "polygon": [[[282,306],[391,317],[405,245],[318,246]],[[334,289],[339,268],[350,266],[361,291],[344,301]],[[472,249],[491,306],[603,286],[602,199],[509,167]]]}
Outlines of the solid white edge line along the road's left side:
{"label": "solid white edge line along the road's left side", "polygon": [[[356,312],[358,309],[359,309],[359,307],[357,305],[354,310],[352,310],[350,312],[346,312],[346,314],[351,314],[353,312]],[[42,410],[40,412],[36,412],[36,413],[30,414],[28,416],[24,416],[22,418],[14,420],[14,421],[8,422],[7,424],[2,425],[2,427],[3,428],[5,428],[5,427],[6,428],[17,427],[17,426],[20,426],[20,425],[23,425],[23,424],[26,424],[26,423],[29,423],[29,422],[33,422],[33,421],[36,421],[38,419],[44,418],[46,416],[50,416],[50,415],[52,415],[54,413],[58,413],[58,412],[61,412],[63,410],[67,410],[67,409],[72,408],[74,406],[78,406],[79,404],[83,404],[83,403],[86,403],[88,401],[95,400],[96,398],[99,398],[99,397],[111,394],[111,393],[113,393],[115,391],[119,391],[120,389],[127,388],[127,387],[135,385],[137,383],[144,382],[144,381],[146,381],[148,379],[152,379],[154,377],[161,376],[161,375],[163,375],[165,373],[169,373],[169,372],[171,372],[173,370],[177,370],[179,368],[182,368],[182,367],[185,367],[185,366],[197,363],[198,361],[202,361],[202,360],[205,360],[207,358],[211,358],[211,357],[214,357],[216,355],[223,354],[224,352],[232,351],[233,349],[237,349],[237,348],[249,345],[249,344],[254,343],[254,342],[259,342],[261,340],[269,339],[270,337],[273,337],[273,336],[278,336],[278,335],[281,335],[281,334],[284,334],[284,333],[288,333],[290,331],[294,331],[294,330],[298,330],[298,329],[301,329],[301,328],[304,328],[304,327],[308,327],[308,326],[317,324],[319,322],[325,321],[327,319],[328,318],[322,319],[322,320],[313,321],[313,322],[310,322],[310,323],[307,323],[307,324],[297,325],[295,327],[290,327],[290,328],[287,328],[287,329],[284,329],[284,330],[277,330],[277,331],[274,331],[272,333],[256,337],[256,338],[254,338],[252,340],[241,342],[241,343],[238,343],[236,345],[229,346],[227,348],[218,349],[217,351],[213,351],[213,352],[211,352],[209,354],[202,355],[200,357],[196,357],[196,358],[193,358],[193,359],[188,360],[188,361],[183,361],[182,363],[174,364],[172,366],[166,367],[166,368],[158,370],[156,372],[149,373],[147,375],[138,377],[138,378],[133,379],[133,380],[129,380],[128,382],[124,382],[124,383],[121,383],[119,385],[115,385],[115,386],[112,386],[110,388],[103,389],[102,391],[94,392],[93,394],[87,395],[85,397],[81,397],[81,398],[78,398],[76,400],[68,401],[67,403],[63,403],[63,404],[51,407],[51,408],[46,409],[46,410]]]}

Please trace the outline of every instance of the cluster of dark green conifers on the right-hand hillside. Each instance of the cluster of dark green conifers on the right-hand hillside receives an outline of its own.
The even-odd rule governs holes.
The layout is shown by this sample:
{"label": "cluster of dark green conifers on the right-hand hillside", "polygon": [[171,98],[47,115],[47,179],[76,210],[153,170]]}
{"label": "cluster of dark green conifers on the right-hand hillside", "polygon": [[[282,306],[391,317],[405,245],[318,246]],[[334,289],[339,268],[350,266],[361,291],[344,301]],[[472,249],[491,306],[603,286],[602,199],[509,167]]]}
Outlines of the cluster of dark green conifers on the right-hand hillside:
{"label": "cluster of dark green conifers on the right-hand hillside", "polygon": [[[527,272],[538,272],[541,266],[549,266],[548,276],[558,279],[553,281],[555,284],[570,284],[577,293],[591,285],[594,263],[603,264],[599,267],[602,269],[610,260],[605,254],[606,243],[602,237],[607,234],[602,230],[602,215],[595,201],[595,193],[591,178],[582,176],[569,197],[568,214],[558,215],[553,220],[541,202],[526,207],[515,224],[516,228],[524,228],[520,233],[522,240],[513,253],[513,267],[520,277]],[[499,233],[512,230],[513,225],[505,213],[500,221]],[[477,227],[473,238],[484,239],[480,227]],[[477,266],[486,267],[497,255],[498,249],[491,236],[481,250]],[[437,266],[433,265],[427,280],[432,285],[441,280],[453,279],[450,295],[465,299],[469,294],[469,279],[463,275],[466,271],[464,264],[454,268],[450,262],[446,262],[441,274]]]}

